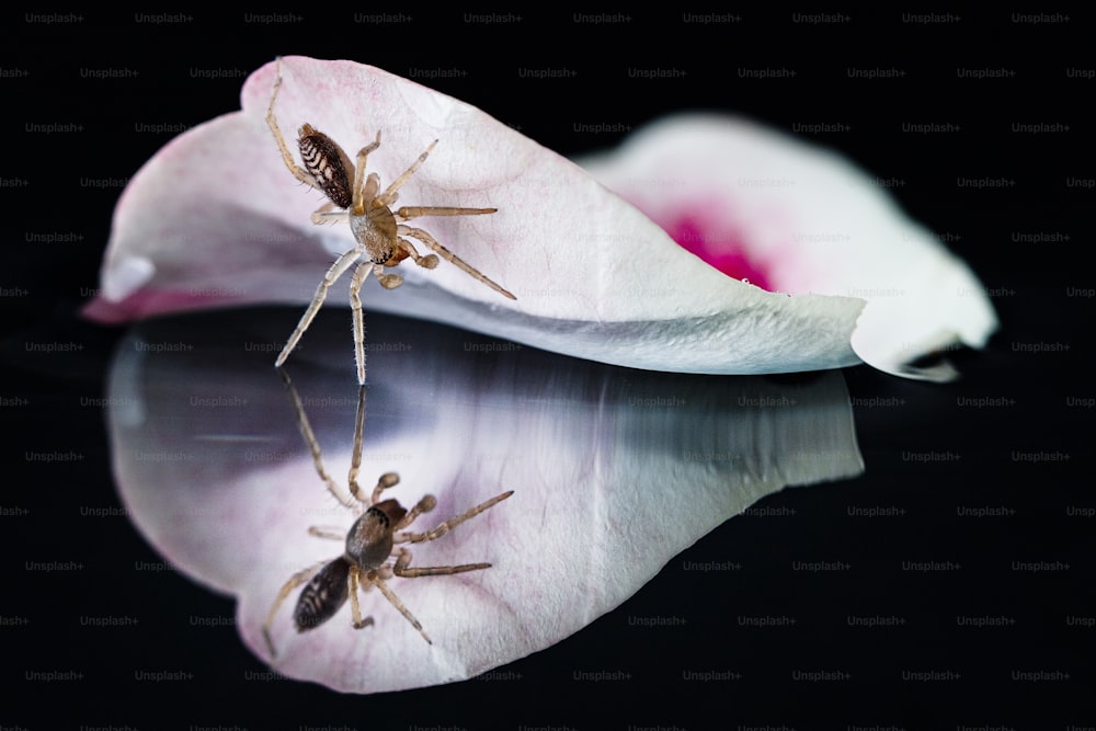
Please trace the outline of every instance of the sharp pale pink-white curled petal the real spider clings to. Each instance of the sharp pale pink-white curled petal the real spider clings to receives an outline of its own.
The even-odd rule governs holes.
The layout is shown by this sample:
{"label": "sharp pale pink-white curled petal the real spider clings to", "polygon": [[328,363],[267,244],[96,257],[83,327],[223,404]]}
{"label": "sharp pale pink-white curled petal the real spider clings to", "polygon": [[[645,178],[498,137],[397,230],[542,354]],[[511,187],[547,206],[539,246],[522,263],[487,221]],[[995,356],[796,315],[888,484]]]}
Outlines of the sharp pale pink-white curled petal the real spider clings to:
{"label": "sharp pale pink-white curled petal the real spider clings to", "polygon": [[[283,130],[309,122],[353,152],[380,128],[368,167],[383,181],[438,138],[400,204],[499,208],[422,226],[516,301],[445,263],[432,272],[404,264],[400,289],[373,282],[363,289],[367,308],[660,370],[859,363],[849,341],[863,300],[787,297],[728,277],[572,162],[413,82],[349,61],[287,58],[283,70]],[[344,225],[310,222],[321,196],[285,169],[263,121],[273,80],[271,64],[246,83],[242,112],[180,136],[135,175],[115,212],[103,294],[90,316],[119,321],[311,298],[352,239]],[[345,304],[344,292],[329,301]]]}

